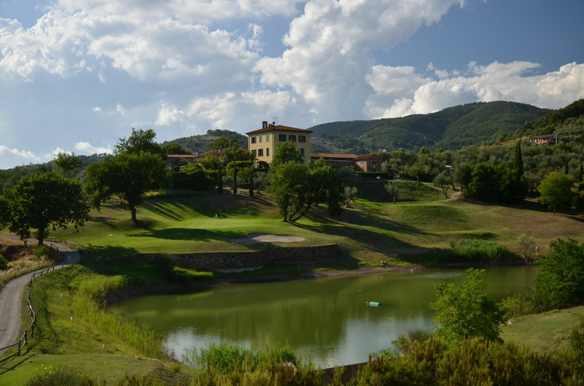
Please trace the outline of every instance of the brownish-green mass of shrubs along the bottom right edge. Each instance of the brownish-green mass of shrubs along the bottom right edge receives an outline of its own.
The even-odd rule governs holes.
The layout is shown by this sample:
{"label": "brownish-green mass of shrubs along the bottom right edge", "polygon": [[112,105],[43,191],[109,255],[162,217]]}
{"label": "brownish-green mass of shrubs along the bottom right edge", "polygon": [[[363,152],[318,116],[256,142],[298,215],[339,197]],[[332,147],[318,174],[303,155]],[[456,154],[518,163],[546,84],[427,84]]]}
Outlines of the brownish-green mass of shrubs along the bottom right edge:
{"label": "brownish-green mass of shrubs along the bottom right edge", "polygon": [[513,343],[464,339],[449,346],[433,337],[413,343],[404,357],[370,361],[352,385],[581,384],[582,371],[565,357],[531,352]]}

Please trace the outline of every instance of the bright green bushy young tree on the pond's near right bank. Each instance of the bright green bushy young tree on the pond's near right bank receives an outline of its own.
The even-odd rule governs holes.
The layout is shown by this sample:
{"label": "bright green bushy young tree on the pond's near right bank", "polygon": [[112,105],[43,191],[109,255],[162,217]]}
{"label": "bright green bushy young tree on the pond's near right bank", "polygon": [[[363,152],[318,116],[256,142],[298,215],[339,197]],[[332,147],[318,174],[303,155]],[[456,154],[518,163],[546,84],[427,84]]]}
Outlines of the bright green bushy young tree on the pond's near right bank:
{"label": "bright green bushy young tree on the pond's near right bank", "polygon": [[440,282],[434,286],[438,299],[430,307],[438,313],[434,315],[433,328],[439,328],[438,334],[449,343],[474,337],[500,341],[503,311],[484,292],[485,270],[470,268],[466,272],[461,285]]}

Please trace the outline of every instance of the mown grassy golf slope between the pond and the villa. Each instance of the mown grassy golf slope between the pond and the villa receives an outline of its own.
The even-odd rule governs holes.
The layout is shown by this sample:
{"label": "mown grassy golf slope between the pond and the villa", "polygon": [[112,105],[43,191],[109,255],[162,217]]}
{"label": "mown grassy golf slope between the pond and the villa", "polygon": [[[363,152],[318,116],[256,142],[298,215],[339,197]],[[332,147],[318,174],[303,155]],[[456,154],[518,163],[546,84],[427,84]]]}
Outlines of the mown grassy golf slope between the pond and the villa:
{"label": "mown grassy golf slope between the pond and the villa", "polygon": [[[192,197],[149,199],[138,209],[138,223],[130,213],[108,202],[79,232],[69,228],[51,232],[87,245],[98,255],[119,257],[137,253],[252,251],[267,247],[340,246],[338,265],[314,269],[354,269],[378,265],[390,258],[393,265],[425,264],[415,255],[429,248],[447,248],[450,240],[478,238],[512,246],[522,233],[536,238],[543,253],[557,237],[580,238],[582,218],[552,215],[536,202],[491,205],[464,198],[444,200],[442,191],[416,182],[397,181],[402,187],[398,203],[391,202],[385,181],[366,181],[360,198],[338,219],[324,206],[308,212],[297,223],[284,223],[267,194],[249,197],[214,192]],[[407,200],[407,201],[406,201]],[[228,239],[249,233],[291,234],[304,237],[293,243],[238,244]],[[409,257],[405,257],[408,255]],[[342,264],[340,264],[342,262]]]}

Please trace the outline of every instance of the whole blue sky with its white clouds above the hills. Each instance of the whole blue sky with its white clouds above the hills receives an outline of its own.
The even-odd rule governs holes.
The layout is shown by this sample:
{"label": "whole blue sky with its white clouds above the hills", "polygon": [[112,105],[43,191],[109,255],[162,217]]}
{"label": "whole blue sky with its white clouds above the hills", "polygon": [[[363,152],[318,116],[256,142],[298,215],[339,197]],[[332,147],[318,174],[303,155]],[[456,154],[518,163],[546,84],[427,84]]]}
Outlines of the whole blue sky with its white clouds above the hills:
{"label": "whole blue sky with its white clouds above the hills", "polygon": [[0,168],[276,115],[308,128],[584,97],[566,0],[0,0]]}

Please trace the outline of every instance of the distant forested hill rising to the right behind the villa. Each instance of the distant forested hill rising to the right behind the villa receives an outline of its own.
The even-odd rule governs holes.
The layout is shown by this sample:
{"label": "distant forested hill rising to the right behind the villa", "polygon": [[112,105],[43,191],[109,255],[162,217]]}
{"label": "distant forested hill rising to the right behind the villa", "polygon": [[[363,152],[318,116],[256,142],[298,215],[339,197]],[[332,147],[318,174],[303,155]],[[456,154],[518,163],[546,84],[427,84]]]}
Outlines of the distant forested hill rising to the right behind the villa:
{"label": "distant forested hill rising to the right behind the villa", "polygon": [[[551,110],[529,104],[493,101],[475,102],[444,108],[430,114],[371,121],[331,122],[316,125],[312,137],[321,137],[317,148],[353,148],[415,150],[425,144],[429,149],[460,149],[503,137],[521,129],[527,121],[542,117]],[[347,149],[348,150],[348,149]]]}

